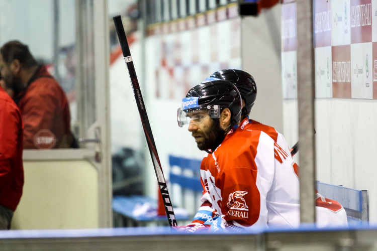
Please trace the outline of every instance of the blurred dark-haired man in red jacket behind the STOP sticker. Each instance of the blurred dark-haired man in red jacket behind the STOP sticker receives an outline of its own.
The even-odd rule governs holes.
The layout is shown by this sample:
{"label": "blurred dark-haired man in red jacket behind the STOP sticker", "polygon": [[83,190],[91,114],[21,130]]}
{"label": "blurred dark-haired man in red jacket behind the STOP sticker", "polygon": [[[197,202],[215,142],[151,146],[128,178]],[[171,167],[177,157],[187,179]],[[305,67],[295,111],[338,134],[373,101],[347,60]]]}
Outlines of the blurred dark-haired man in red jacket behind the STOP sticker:
{"label": "blurred dark-haired man in red jacket behind the STOP sticker", "polygon": [[27,45],[13,40],[0,48],[0,73],[22,114],[24,149],[75,147],[67,97]]}

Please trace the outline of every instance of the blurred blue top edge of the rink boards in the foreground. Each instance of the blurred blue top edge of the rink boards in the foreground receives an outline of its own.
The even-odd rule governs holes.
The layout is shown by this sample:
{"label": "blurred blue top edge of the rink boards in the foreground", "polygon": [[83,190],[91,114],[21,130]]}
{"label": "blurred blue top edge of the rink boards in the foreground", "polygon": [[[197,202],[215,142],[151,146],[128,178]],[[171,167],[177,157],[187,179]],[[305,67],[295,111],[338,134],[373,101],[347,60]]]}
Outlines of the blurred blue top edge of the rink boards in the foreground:
{"label": "blurred blue top edge of the rink boards in the foreground", "polygon": [[96,229],[53,229],[53,230],[1,230],[0,239],[12,238],[80,238],[80,237],[115,237],[115,236],[136,236],[136,235],[171,235],[171,234],[263,234],[274,232],[320,232],[320,231],[352,231],[352,230],[377,230],[377,225],[354,224],[348,227],[327,227],[317,228],[313,224],[302,224],[298,228],[270,227],[255,228],[248,231],[213,233],[183,233],[172,230],[169,226],[156,227],[124,227],[124,228],[96,228]]}

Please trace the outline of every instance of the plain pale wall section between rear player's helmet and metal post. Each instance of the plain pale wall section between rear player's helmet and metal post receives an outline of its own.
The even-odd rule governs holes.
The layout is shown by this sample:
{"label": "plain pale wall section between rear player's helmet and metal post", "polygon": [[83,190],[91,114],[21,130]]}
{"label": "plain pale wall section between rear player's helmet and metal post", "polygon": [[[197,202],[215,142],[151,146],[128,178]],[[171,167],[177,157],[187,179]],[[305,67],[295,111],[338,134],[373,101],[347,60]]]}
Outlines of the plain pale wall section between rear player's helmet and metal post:
{"label": "plain pale wall section between rear player's helmet and metal post", "polygon": [[242,70],[250,73],[257,85],[251,118],[283,133],[280,67],[281,7],[263,11],[258,17],[242,18]]}

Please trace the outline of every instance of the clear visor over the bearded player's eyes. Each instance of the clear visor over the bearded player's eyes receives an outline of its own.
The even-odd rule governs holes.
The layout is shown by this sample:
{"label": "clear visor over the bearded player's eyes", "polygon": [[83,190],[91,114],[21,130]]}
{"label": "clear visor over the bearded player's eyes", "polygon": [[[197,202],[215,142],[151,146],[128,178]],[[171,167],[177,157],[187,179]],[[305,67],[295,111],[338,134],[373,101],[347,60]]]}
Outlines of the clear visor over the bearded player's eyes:
{"label": "clear visor over the bearded player's eyes", "polygon": [[199,105],[199,107],[184,110],[182,109],[182,107],[179,107],[177,110],[177,121],[179,127],[183,127],[185,124],[190,123],[202,123],[210,117],[220,117],[219,105]]}

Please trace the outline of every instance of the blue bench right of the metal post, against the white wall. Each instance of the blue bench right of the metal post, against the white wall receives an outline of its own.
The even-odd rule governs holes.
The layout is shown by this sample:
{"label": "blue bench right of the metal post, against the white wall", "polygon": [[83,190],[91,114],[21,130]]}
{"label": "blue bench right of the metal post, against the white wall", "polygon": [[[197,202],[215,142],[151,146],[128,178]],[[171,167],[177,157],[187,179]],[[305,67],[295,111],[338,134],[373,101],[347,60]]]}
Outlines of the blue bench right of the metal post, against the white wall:
{"label": "blue bench right of the metal post, against the white wall", "polygon": [[347,213],[348,223],[367,223],[368,192],[317,181],[318,192],[329,199],[338,201]]}

